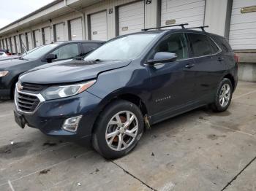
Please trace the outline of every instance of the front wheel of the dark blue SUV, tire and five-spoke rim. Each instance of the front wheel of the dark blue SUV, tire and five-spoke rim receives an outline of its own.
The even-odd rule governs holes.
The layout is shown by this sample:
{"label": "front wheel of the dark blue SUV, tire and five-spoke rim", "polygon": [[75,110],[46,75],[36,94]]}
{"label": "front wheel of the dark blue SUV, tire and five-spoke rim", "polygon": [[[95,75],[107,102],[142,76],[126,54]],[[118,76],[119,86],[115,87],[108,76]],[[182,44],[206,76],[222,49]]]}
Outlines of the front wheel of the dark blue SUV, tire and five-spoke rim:
{"label": "front wheel of the dark blue SUV, tire and five-spoke rim", "polygon": [[107,159],[122,157],[138,144],[143,127],[138,106],[129,101],[113,101],[98,117],[92,146]]}

